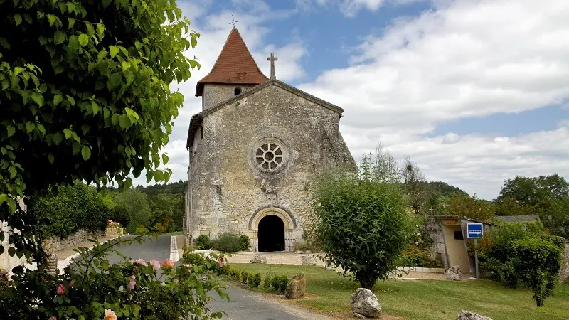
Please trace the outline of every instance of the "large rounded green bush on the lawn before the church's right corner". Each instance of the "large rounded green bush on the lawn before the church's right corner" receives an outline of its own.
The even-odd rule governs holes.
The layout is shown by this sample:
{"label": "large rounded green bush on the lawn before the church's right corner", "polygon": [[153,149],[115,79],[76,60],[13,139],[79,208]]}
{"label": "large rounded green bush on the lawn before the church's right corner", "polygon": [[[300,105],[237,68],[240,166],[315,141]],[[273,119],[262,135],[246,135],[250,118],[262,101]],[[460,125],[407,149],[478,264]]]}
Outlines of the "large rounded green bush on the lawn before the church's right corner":
{"label": "large rounded green bush on the lawn before the church's right corner", "polygon": [[305,228],[326,263],[341,266],[362,287],[388,279],[413,233],[400,183],[376,183],[326,171],[312,181],[312,216]]}

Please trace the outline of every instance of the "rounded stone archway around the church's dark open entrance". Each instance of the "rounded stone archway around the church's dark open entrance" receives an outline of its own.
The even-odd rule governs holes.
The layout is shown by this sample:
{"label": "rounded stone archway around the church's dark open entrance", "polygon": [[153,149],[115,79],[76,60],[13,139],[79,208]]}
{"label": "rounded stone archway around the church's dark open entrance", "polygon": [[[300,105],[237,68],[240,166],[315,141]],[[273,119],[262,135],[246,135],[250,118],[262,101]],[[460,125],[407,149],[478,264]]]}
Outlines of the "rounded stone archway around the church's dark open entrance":
{"label": "rounded stone archway around the church's dark open entrance", "polygon": [[296,222],[282,208],[269,207],[257,210],[249,220],[253,231],[252,246],[255,252],[292,251],[292,230]]}

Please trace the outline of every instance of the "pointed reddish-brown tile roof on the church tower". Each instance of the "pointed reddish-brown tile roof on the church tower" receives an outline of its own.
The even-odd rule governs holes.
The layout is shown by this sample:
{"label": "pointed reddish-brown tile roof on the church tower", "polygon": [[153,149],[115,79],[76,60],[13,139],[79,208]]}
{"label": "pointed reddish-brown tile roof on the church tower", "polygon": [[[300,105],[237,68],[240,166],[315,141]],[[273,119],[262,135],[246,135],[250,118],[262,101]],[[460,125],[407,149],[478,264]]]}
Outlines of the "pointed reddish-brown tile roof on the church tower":
{"label": "pointed reddish-brown tile roof on the church tower", "polygon": [[233,28],[210,73],[198,81],[196,97],[203,93],[206,83],[260,85],[269,80],[253,59],[239,31]]}

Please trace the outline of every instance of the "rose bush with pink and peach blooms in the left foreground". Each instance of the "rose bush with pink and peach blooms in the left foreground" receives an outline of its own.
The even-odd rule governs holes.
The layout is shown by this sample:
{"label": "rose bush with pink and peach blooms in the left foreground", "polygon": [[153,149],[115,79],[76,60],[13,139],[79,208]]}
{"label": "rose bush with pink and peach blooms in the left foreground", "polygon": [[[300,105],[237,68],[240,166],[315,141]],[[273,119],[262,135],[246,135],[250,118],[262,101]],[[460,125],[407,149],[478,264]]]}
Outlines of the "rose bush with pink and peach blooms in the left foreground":
{"label": "rose bush with pink and peach blooms in the left foreground", "polygon": [[[105,257],[117,245],[141,242],[119,238],[82,248],[76,262],[63,274],[44,268],[14,268],[9,282],[0,287],[2,319],[219,319],[207,303],[208,292],[227,297],[212,272],[216,257],[194,259],[192,265],[174,267],[165,260],[111,264]],[[161,272],[158,272],[161,270]]]}

